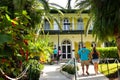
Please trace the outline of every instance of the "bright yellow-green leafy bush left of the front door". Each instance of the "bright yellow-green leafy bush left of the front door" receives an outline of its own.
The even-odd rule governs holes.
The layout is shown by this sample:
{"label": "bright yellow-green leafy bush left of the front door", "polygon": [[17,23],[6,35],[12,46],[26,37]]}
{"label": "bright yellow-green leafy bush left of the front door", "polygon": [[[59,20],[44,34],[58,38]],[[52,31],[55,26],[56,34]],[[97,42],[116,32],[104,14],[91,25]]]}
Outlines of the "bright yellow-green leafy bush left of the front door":
{"label": "bright yellow-green leafy bush left of the front door", "polygon": [[39,35],[37,39],[31,38],[29,42],[30,58],[39,56],[39,61],[45,63],[50,60],[53,53],[53,43],[50,42],[49,35]]}

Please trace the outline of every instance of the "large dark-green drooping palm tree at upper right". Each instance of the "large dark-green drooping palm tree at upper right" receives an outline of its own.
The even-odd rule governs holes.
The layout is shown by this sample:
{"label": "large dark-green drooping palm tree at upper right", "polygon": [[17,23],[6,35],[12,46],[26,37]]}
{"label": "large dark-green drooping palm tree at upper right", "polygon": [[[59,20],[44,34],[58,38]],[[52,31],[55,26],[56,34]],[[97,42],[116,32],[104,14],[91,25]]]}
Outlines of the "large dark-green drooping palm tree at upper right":
{"label": "large dark-green drooping palm tree at upper right", "polygon": [[93,35],[101,41],[116,40],[120,57],[120,0],[76,0],[80,11],[89,8]]}

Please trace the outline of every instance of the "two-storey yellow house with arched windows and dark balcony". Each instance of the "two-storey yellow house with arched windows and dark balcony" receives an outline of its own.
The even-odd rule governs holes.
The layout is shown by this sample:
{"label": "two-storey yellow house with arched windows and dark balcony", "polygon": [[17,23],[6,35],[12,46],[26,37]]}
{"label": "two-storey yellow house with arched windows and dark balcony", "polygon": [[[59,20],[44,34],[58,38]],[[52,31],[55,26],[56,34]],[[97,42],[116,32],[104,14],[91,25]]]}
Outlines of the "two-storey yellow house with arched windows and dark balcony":
{"label": "two-storey yellow house with arched windows and dark balcony", "polygon": [[95,39],[92,36],[91,26],[89,28],[88,35],[85,37],[85,26],[89,19],[88,11],[83,11],[82,14],[76,13],[76,10],[63,11],[64,16],[61,16],[55,10],[51,10],[51,14],[57,18],[62,30],[59,29],[57,23],[52,20],[52,27],[50,27],[49,22],[46,20],[44,24],[45,33],[49,33],[50,39],[54,44],[54,47],[61,49],[62,59],[70,59],[76,56],[78,49],[81,47],[82,43],[86,47],[92,47],[95,43]]}

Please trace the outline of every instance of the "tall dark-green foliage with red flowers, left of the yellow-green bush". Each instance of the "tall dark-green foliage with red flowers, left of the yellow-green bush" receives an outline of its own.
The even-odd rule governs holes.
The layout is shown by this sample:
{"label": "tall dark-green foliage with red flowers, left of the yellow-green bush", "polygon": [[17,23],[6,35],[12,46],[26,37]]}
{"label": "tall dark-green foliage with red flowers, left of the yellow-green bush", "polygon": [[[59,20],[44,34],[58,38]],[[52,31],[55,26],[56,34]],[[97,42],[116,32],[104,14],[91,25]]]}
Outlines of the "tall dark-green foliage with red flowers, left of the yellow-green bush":
{"label": "tall dark-green foliage with red flowers, left of the yellow-green bush", "polygon": [[45,19],[55,19],[49,11],[46,0],[0,0],[0,67],[7,75],[16,77],[29,60],[31,38],[37,39]]}

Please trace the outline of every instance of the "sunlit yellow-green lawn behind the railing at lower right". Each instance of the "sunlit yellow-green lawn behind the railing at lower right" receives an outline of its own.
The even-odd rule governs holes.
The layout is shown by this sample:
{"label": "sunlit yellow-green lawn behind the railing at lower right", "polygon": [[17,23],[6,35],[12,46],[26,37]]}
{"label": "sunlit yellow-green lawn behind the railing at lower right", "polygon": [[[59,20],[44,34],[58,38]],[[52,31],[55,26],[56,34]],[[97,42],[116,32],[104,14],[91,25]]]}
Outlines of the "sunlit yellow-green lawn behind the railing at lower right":
{"label": "sunlit yellow-green lawn behind the railing at lower right", "polygon": [[109,64],[99,64],[99,71],[103,73],[110,80],[118,78],[118,73],[120,74],[120,63],[109,63]]}

